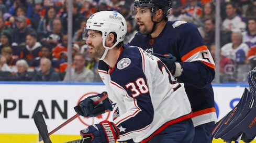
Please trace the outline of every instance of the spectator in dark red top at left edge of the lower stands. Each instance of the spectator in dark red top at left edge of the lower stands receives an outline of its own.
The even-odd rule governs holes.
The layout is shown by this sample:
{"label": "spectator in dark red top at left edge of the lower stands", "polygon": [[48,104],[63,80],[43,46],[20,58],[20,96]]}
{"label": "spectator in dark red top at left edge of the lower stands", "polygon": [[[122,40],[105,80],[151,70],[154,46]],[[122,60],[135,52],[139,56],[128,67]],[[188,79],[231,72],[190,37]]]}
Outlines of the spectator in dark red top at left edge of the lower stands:
{"label": "spectator in dark red top at left edge of the lower stands", "polygon": [[8,66],[15,66],[18,59],[13,57],[13,50],[10,47],[5,47],[1,50],[2,57],[5,57]]}

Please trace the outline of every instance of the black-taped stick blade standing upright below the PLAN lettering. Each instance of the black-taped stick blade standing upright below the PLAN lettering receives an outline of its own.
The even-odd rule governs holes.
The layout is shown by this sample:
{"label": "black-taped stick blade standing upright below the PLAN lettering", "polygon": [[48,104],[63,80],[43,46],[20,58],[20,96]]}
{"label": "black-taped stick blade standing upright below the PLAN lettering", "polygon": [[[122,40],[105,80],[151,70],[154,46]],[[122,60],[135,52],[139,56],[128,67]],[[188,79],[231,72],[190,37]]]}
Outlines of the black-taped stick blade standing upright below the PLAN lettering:
{"label": "black-taped stick blade standing upright below the PLAN lettering", "polygon": [[42,141],[44,143],[52,143],[50,140],[50,136],[47,130],[46,122],[43,119],[42,112],[37,111],[34,114],[34,121],[37,126],[38,132],[39,132],[39,139],[38,141]]}

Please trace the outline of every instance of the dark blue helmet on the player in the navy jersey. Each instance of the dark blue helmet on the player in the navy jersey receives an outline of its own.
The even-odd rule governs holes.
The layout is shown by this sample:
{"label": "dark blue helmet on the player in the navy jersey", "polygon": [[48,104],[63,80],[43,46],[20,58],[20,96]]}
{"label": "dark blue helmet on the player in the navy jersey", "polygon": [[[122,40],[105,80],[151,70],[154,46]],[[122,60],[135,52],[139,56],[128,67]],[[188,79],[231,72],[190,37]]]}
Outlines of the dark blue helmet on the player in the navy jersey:
{"label": "dark blue helmet on the player in the navy jersey", "polygon": [[158,9],[163,10],[163,17],[166,17],[170,14],[172,8],[171,0],[135,0],[132,8],[132,16],[136,16],[136,7],[146,7],[149,8],[151,14],[154,15],[155,11]]}

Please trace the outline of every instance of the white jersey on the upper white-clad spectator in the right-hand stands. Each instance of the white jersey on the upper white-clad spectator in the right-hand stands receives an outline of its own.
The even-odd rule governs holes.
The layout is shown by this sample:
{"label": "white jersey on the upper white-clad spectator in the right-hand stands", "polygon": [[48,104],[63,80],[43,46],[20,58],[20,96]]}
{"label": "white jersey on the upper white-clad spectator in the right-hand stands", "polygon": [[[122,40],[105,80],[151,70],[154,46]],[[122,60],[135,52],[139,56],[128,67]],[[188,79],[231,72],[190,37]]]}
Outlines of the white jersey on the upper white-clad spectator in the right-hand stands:
{"label": "white jersey on the upper white-clad spectator in the right-hand stands", "polygon": [[230,29],[231,31],[244,31],[246,29],[246,22],[240,16],[235,16],[232,19],[226,18],[222,22],[222,26],[224,29]]}

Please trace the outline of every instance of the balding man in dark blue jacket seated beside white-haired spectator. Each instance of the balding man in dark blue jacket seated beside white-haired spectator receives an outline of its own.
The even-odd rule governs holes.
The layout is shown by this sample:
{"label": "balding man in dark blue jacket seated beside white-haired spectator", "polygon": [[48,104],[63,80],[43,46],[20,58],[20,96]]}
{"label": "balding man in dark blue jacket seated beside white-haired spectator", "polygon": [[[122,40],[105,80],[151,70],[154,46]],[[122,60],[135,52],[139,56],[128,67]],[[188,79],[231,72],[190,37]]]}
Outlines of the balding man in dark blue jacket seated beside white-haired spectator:
{"label": "balding man in dark blue jacket seated beside white-haired spectator", "polygon": [[60,76],[51,68],[51,61],[48,58],[41,58],[40,71],[36,72],[32,81],[60,81]]}

